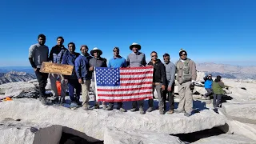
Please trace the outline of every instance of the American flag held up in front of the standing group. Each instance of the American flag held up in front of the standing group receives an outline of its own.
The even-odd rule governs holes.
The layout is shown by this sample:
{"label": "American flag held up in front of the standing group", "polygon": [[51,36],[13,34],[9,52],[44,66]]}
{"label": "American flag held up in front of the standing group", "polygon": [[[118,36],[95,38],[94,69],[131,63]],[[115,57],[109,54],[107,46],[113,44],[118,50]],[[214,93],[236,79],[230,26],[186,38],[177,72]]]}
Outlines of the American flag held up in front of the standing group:
{"label": "American flag held up in front of the standing group", "polygon": [[98,102],[127,102],[153,98],[153,66],[95,67],[94,70]]}

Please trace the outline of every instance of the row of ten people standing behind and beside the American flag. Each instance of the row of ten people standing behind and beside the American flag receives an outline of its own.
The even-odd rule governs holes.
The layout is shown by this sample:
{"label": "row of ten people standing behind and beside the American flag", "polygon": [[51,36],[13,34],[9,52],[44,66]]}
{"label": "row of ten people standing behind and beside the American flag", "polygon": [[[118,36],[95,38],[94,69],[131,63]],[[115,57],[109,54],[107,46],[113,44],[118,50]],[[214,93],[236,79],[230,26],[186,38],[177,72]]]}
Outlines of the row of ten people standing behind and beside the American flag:
{"label": "row of ten people standing behind and beside the American flag", "polygon": [[[174,65],[170,62],[170,55],[163,54],[163,62],[158,59],[158,53],[156,51],[151,52],[150,62],[146,63],[146,55],[140,52],[142,46],[138,43],[130,45],[132,51],[127,58],[122,58],[119,54],[120,49],[114,47],[114,57],[110,58],[107,63],[106,58],[102,58],[102,50],[95,47],[90,50],[86,45],[80,46],[81,54],[75,52],[76,46],[74,42],[68,43],[68,49],[63,46],[64,38],[57,38],[57,45],[52,47],[49,54],[49,49],[45,46],[46,36],[44,34],[38,35],[38,43],[30,46],[29,60],[31,66],[34,68],[35,74],[39,82],[40,101],[43,105],[46,105],[46,83],[47,78],[50,78],[51,89],[53,91],[55,103],[64,103],[66,96],[66,85],[68,85],[71,105],[82,105],[84,110],[89,109],[89,91],[92,86],[95,92],[94,82],[94,67],[142,67],[142,66],[154,66],[153,74],[153,93],[154,90],[158,94],[158,107],[159,114],[165,114],[166,111],[166,99],[170,102],[170,108],[166,112],[167,114],[185,113],[184,115],[190,116],[193,110],[193,98],[192,90],[194,89],[194,82],[197,78],[196,65],[194,61],[187,58],[186,50],[181,49],[179,51],[180,59]],[[49,54],[49,55],[48,55]],[[74,70],[70,76],[62,74],[46,74],[41,73],[39,70],[42,66],[42,62],[54,62],[58,64],[67,64],[74,66]],[[178,94],[180,102],[178,109],[174,110],[174,78],[176,74],[176,80],[178,81]],[[56,81],[61,82],[61,98],[58,98],[58,90]],[[74,94],[74,90],[75,94]],[[79,102],[79,97],[82,91],[82,103]],[[94,94],[95,95],[95,94]],[[96,96],[95,96],[96,97]],[[218,98],[218,97],[217,97]],[[94,98],[96,100],[96,98]],[[146,112],[154,110],[153,99],[149,99],[149,108]],[[140,114],[145,114],[143,110],[144,101],[132,102],[132,108],[130,111],[139,111]],[[114,102],[109,102],[106,106],[106,102],[102,102],[104,110],[113,110]],[[95,102],[94,109],[99,108],[99,102]],[[122,102],[118,102],[118,110],[125,112],[122,107]]]}

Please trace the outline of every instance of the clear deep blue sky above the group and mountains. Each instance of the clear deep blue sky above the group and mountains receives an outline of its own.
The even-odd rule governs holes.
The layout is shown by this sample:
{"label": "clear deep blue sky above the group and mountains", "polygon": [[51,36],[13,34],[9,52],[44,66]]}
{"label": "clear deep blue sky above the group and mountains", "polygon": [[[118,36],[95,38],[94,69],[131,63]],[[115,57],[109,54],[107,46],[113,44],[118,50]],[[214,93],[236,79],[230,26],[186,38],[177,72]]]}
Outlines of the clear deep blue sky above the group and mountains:
{"label": "clear deep blue sky above the group and mountains", "polygon": [[256,60],[254,0],[2,0],[0,2],[0,66],[30,66],[28,50],[38,34],[51,49],[62,36],[111,58],[138,42],[146,59],[150,52],[169,53],[178,60],[183,48],[195,62],[254,65]]}

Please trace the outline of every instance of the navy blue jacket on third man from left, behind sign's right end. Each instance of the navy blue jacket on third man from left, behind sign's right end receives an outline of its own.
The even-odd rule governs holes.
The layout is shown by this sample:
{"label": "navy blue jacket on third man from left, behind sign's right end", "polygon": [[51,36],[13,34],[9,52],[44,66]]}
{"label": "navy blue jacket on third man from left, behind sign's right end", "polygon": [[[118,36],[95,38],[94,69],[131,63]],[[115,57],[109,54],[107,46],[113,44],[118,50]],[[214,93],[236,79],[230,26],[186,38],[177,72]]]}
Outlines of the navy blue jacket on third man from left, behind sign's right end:
{"label": "navy blue jacket on third man from left, behind sign's right end", "polygon": [[69,51],[66,51],[66,53],[63,55],[62,58],[62,64],[74,66],[73,72],[70,76],[64,75],[65,79],[77,79],[77,74],[75,73],[75,59],[78,58],[80,54],[74,52],[74,54],[71,54]]}

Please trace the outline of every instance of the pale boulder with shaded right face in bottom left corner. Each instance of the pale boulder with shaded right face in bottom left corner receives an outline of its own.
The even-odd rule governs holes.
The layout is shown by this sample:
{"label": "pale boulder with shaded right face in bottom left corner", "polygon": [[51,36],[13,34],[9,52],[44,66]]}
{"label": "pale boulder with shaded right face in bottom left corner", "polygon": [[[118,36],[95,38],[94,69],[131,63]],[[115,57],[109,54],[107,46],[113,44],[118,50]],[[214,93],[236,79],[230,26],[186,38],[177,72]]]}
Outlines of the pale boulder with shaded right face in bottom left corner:
{"label": "pale boulder with shaded right face in bottom left corner", "polygon": [[[22,121],[22,120],[21,120]],[[0,143],[58,144],[62,126],[4,120],[0,122]]]}

